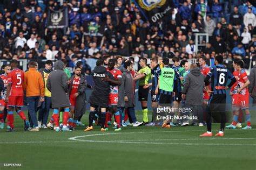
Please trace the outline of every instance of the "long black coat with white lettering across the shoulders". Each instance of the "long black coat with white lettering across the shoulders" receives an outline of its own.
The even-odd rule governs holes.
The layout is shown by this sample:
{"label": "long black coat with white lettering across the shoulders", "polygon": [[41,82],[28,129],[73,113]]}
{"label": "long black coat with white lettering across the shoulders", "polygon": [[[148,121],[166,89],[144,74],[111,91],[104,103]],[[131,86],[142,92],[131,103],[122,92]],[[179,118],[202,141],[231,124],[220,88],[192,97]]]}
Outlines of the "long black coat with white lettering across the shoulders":
{"label": "long black coat with white lettering across the shoulders", "polygon": [[110,79],[114,79],[114,77],[103,66],[96,66],[91,75],[95,86],[88,102],[92,105],[106,108],[109,105],[110,83],[102,81],[102,78],[109,76]]}

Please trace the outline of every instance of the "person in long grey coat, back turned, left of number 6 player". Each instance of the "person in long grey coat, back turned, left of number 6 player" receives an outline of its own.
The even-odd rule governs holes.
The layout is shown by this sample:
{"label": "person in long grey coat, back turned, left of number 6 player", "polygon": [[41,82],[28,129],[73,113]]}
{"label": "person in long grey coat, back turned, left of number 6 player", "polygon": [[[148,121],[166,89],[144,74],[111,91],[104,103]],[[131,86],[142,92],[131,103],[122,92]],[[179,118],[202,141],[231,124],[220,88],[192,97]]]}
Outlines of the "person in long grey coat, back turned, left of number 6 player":
{"label": "person in long grey coat, back turned, left of number 6 player", "polygon": [[[199,126],[203,126],[203,89],[204,75],[201,73],[200,68],[193,63],[190,66],[190,73],[186,75],[182,98],[186,98],[185,107],[192,108],[192,115],[198,116]],[[193,120],[193,123],[194,121],[196,120]]]}

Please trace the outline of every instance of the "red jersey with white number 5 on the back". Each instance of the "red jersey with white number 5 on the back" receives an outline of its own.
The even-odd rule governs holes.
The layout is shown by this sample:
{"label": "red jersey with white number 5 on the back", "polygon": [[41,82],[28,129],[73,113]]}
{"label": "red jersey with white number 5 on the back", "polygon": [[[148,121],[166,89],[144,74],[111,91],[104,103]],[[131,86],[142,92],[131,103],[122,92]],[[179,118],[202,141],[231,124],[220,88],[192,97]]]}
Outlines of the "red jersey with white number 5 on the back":
{"label": "red jersey with white number 5 on the back", "polygon": [[24,81],[24,72],[21,69],[13,69],[8,73],[8,84],[11,85],[11,92],[9,96],[23,96],[23,81]]}

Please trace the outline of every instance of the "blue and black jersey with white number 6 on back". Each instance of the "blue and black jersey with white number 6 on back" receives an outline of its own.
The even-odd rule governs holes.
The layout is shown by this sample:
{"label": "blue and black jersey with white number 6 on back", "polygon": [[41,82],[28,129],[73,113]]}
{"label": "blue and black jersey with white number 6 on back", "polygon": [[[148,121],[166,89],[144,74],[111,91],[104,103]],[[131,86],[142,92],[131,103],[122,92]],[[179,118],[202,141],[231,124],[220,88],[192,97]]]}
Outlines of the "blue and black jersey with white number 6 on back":
{"label": "blue and black jersey with white number 6 on back", "polygon": [[234,77],[223,65],[212,67],[207,76],[211,77],[211,90],[214,91],[214,94],[226,94],[227,80]]}

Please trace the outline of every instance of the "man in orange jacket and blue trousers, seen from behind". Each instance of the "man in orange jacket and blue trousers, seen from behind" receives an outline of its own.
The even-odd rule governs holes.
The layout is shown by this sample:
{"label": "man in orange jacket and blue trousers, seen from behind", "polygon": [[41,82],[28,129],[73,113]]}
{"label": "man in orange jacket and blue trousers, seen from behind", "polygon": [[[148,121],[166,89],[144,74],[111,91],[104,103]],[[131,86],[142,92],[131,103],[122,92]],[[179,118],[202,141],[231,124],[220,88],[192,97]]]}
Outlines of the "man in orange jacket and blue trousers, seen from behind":
{"label": "man in orange jacket and blue trousers, seen from behind", "polygon": [[29,114],[31,117],[30,131],[39,131],[38,122],[36,118],[36,110],[38,102],[44,101],[44,81],[43,77],[36,70],[37,63],[31,61],[29,63],[29,70],[24,74],[23,89],[26,90],[26,102],[28,103]]}

